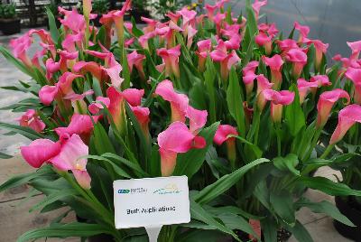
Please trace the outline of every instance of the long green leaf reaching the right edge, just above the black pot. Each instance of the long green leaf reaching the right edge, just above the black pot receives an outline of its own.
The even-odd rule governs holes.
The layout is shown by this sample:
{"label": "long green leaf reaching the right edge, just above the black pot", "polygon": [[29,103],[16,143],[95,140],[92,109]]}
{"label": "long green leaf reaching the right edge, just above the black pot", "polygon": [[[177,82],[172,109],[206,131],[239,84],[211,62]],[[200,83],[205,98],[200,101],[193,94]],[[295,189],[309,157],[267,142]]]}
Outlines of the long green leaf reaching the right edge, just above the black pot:
{"label": "long green leaf reaching the right edge, just above the black pot", "polygon": [[349,188],[346,184],[331,181],[325,177],[300,177],[298,182],[301,182],[310,189],[323,191],[331,196],[361,196],[361,191],[356,191]]}

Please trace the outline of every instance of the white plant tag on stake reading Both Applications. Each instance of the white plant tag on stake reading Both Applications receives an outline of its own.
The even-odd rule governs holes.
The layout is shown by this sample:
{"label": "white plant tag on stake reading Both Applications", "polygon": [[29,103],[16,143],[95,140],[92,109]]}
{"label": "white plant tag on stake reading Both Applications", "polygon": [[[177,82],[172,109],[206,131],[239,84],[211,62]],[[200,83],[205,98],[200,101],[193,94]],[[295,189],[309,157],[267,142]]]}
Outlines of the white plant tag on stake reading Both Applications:
{"label": "white plant tag on stake reading Both Applications", "polygon": [[144,227],[156,242],[163,225],[189,223],[187,176],[114,181],[116,228]]}

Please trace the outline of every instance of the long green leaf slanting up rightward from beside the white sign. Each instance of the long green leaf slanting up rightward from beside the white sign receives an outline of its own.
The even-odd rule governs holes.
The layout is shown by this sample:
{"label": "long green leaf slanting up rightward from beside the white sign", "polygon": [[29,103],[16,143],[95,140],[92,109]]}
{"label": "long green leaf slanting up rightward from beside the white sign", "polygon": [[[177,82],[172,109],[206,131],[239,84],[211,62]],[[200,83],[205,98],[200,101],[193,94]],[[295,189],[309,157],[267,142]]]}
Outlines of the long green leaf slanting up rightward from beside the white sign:
{"label": "long green leaf slanting up rightward from beside the white sign", "polygon": [[208,185],[202,191],[195,196],[195,200],[200,204],[208,203],[210,200],[214,200],[220,194],[230,189],[233,185],[239,181],[246,172],[254,168],[260,163],[267,163],[268,159],[257,159],[252,163],[247,163],[245,166],[239,168],[235,172],[222,176],[218,181]]}

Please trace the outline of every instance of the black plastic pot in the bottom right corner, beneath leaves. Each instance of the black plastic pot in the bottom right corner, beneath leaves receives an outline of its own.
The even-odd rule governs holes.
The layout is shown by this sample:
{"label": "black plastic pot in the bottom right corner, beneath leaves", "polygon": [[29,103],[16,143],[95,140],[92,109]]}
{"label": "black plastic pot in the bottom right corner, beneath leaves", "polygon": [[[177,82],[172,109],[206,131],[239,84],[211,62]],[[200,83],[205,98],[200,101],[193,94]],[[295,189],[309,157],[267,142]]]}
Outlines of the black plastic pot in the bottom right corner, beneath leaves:
{"label": "black plastic pot in the bottom right corner, beneath leaves", "polygon": [[361,204],[357,203],[352,196],[347,198],[335,197],[335,201],[339,211],[350,219],[356,227],[349,227],[337,220],[333,221],[334,227],[343,237],[361,241]]}

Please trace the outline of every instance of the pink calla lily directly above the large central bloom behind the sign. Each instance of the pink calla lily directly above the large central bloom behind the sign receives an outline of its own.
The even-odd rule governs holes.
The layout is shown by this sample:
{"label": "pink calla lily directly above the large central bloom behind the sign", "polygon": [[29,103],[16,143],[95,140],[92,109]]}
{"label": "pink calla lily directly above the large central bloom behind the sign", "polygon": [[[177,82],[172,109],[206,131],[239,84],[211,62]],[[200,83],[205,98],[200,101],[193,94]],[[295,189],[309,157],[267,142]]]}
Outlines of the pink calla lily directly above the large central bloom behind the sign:
{"label": "pink calla lily directly above the large central bloom behind the sign", "polygon": [[189,99],[186,95],[175,92],[170,80],[165,79],[159,83],[154,93],[171,103],[171,122],[185,121]]}

